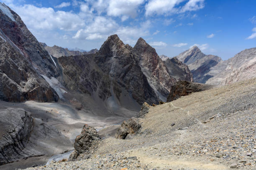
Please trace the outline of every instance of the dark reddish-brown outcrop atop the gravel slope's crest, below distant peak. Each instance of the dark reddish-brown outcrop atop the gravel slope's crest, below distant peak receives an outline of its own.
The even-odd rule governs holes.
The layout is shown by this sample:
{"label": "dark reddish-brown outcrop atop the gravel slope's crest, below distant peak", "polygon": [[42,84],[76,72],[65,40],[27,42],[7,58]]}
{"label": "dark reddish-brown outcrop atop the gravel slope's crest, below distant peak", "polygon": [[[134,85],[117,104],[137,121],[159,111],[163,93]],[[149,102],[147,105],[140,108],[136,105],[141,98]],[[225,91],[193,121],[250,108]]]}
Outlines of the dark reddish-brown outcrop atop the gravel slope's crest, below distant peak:
{"label": "dark reddish-brown outcrop atop the gravel slope's crest, below distant peak", "polygon": [[167,97],[167,102],[171,102],[172,100],[176,100],[181,96],[189,95],[192,92],[200,92],[204,90],[208,90],[212,87],[212,85],[205,85],[196,82],[188,82],[188,81],[178,81],[175,85],[171,87],[171,91],[169,96]]}

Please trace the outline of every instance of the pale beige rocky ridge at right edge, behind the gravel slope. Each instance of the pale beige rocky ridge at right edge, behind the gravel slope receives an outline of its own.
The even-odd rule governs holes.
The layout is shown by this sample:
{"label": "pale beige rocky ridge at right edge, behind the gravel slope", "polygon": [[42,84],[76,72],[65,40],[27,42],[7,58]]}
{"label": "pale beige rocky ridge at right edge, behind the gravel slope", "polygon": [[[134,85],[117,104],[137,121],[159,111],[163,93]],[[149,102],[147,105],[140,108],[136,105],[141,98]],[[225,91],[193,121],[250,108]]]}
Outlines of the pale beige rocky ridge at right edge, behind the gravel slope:
{"label": "pale beige rocky ridge at right edge, behind the gravel slope", "polygon": [[256,48],[243,50],[210,69],[207,84],[226,85],[256,77]]}

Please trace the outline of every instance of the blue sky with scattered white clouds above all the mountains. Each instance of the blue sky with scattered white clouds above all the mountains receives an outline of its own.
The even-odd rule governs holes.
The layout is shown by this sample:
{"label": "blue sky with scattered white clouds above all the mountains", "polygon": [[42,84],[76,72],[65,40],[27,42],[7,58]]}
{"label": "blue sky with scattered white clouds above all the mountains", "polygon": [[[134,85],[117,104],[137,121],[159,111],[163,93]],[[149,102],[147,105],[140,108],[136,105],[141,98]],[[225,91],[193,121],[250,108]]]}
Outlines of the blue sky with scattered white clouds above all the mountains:
{"label": "blue sky with scattered white clouds above all the mountains", "polygon": [[193,45],[226,60],[256,47],[256,0],[0,0],[47,45],[99,49],[118,34],[174,57]]}

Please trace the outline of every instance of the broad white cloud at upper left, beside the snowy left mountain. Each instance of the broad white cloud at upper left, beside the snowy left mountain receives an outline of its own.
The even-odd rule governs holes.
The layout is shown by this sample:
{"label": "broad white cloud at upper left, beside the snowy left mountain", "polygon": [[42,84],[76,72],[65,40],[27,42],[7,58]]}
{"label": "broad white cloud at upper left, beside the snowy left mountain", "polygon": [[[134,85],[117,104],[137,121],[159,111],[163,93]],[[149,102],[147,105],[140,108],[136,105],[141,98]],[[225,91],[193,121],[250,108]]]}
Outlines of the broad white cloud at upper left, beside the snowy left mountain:
{"label": "broad white cloud at upper left, beside the snowy left mountain", "polygon": [[51,7],[34,5],[13,6],[29,29],[33,30],[77,30],[84,27],[84,19],[72,12],[57,11]]}

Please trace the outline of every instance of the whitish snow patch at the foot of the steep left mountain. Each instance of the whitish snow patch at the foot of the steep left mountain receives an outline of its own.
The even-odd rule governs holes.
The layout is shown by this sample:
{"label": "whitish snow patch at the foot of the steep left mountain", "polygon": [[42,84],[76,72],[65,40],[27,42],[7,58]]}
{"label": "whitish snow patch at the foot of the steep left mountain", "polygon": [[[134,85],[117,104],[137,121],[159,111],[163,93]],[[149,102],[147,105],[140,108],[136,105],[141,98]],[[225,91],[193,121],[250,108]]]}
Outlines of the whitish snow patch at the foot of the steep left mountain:
{"label": "whitish snow patch at the foot of the steep left mountain", "polygon": [[42,75],[42,77],[44,77],[44,80],[46,80],[49,85],[51,86],[51,88],[53,88],[56,93],[59,95],[59,97],[61,99],[64,99],[63,94],[67,93],[67,91],[64,90],[64,87],[61,85],[61,83],[59,82],[59,80],[57,80],[55,77],[51,77],[51,79],[45,75]]}

